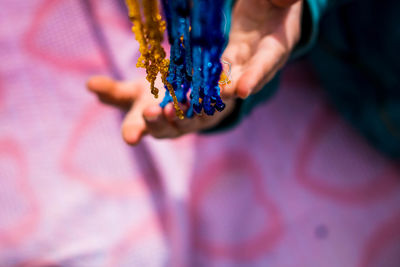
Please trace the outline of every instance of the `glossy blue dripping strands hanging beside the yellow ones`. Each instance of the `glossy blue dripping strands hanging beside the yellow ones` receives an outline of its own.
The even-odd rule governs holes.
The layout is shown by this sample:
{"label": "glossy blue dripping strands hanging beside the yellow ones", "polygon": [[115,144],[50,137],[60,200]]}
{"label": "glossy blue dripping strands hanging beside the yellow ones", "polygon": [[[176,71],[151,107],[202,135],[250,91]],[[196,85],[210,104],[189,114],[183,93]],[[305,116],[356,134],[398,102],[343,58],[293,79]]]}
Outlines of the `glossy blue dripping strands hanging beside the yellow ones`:
{"label": "glossy blue dripping strands hanging beside the yellow ones", "polygon": [[[232,0],[162,0],[171,44],[168,82],[180,103],[190,101],[187,117],[223,111],[219,79],[228,42]],[[226,18],[226,21],[225,21]],[[172,102],[166,90],[160,104]]]}

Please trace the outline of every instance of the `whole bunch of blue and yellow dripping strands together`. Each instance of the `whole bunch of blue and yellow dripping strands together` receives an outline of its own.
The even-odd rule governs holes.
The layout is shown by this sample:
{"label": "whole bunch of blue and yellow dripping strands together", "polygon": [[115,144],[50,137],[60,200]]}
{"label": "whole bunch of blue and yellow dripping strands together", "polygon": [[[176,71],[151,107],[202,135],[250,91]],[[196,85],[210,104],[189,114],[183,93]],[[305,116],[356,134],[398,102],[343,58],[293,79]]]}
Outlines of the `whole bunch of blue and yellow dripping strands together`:
{"label": "whole bunch of blue and yellow dripping strands together", "polygon": [[[187,117],[224,110],[219,85],[229,83],[229,75],[222,72],[221,56],[228,41],[232,0],[161,2],[166,23],[157,0],[126,0],[140,45],[137,67],[146,69],[152,94],[158,97],[154,83],[161,74],[167,89],[161,107],[173,102],[179,118],[184,118],[179,103],[188,101]],[[162,47],[165,28],[171,45],[169,60]]]}

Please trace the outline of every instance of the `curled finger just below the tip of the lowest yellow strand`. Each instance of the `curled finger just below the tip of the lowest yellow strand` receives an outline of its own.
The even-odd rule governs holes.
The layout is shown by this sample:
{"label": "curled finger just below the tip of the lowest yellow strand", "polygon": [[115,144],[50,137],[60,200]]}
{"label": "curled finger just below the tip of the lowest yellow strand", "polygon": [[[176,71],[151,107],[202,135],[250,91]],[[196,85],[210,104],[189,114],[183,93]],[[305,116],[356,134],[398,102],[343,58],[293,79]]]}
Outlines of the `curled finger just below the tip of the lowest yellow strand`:
{"label": "curled finger just below the tip of the lowest yellow strand", "polygon": [[173,138],[180,135],[179,131],[165,117],[160,106],[151,106],[144,110],[143,118],[150,135],[155,138]]}

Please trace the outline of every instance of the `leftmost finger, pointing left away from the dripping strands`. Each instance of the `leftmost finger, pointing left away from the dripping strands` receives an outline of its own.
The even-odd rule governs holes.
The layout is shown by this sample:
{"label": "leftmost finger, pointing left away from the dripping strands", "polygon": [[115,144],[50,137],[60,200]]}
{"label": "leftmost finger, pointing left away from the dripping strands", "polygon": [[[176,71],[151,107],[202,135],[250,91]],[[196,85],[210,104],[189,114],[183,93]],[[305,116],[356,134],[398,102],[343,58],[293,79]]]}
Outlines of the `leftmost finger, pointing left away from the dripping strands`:
{"label": "leftmost finger, pointing left away from the dripping strands", "polygon": [[96,76],[87,83],[87,88],[97,94],[105,104],[128,109],[136,98],[138,83],[117,82],[105,76]]}

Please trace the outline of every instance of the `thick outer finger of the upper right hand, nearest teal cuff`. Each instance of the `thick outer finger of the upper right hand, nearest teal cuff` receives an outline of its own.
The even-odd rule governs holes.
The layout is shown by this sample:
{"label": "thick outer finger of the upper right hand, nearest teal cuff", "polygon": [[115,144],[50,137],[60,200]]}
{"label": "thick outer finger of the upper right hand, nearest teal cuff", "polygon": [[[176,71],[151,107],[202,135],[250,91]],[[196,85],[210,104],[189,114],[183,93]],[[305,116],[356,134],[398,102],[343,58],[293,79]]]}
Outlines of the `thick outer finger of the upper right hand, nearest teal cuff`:
{"label": "thick outer finger of the upper right hand, nearest teal cuff", "polygon": [[286,50],[272,38],[269,44],[260,47],[242,70],[243,74],[235,88],[237,96],[245,99],[269,82],[286,62]]}

